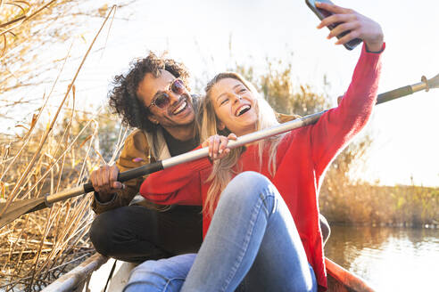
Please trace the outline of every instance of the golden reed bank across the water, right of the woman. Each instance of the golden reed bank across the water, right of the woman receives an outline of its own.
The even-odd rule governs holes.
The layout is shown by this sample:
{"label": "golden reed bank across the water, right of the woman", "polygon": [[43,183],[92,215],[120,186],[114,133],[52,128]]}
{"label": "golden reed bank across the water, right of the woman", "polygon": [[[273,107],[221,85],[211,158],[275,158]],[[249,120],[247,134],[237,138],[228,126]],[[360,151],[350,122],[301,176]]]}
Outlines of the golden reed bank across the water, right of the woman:
{"label": "golden reed bank across the water, right of the woman", "polygon": [[332,223],[434,227],[439,225],[439,189],[327,181],[320,211]]}

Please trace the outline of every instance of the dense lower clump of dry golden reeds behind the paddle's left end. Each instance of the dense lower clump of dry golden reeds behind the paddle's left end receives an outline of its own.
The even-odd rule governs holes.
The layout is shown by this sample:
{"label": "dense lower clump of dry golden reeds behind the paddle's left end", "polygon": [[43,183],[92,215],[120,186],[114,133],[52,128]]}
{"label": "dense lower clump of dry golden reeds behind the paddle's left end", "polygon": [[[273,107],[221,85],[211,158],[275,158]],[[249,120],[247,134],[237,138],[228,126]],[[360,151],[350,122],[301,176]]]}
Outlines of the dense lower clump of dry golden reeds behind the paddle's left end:
{"label": "dense lower clump of dry golden reeds behind the paddle's left end", "polygon": [[[80,134],[71,133],[75,119],[60,136],[50,134],[43,147],[40,142],[46,128],[37,128],[27,143],[10,139],[3,145],[2,168],[8,171],[2,174],[2,201],[13,190],[17,190],[14,201],[36,199],[76,186],[84,179],[83,166],[99,162],[89,152],[95,131],[90,142],[81,147],[83,141],[77,139]],[[88,123],[84,129],[91,131],[91,125]],[[36,162],[27,170],[32,159]],[[12,166],[4,166],[12,161]],[[87,197],[70,199],[24,215],[2,228],[0,265],[3,285],[7,284],[3,288],[40,289],[56,278],[72,259],[89,254],[92,248],[85,234],[92,215],[88,205]]]}

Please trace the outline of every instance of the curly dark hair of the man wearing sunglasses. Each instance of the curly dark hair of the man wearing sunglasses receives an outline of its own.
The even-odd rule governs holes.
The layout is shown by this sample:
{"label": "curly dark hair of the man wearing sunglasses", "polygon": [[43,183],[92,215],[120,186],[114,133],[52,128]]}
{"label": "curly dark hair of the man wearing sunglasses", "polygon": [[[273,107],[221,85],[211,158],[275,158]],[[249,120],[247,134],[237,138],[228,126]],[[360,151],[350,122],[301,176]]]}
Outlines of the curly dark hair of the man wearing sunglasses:
{"label": "curly dark hair of the man wearing sunglasses", "polygon": [[137,96],[137,88],[146,73],[160,77],[162,69],[169,71],[174,77],[183,81],[189,77],[189,73],[182,63],[171,59],[162,59],[152,52],[146,58],[132,61],[126,75],[120,74],[114,77],[112,90],[108,93],[109,104],[114,113],[118,113],[122,118],[124,125],[137,127],[146,132],[156,131],[158,125],[147,118],[151,112]]}

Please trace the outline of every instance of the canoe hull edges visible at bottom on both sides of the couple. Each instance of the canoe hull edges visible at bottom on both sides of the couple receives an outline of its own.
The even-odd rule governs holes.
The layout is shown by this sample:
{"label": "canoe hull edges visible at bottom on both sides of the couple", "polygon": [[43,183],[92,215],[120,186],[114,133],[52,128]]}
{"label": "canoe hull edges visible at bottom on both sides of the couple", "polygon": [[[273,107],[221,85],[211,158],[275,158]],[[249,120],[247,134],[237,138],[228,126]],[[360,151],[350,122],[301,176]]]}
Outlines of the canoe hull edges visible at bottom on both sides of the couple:
{"label": "canoe hull edges visible at bottom on both sides of the couple", "polygon": [[[109,282],[107,292],[121,291],[128,281],[129,272],[135,264],[117,262],[104,255],[91,255],[70,272],[43,289],[44,292],[102,292],[108,275],[115,266],[115,272]],[[330,259],[325,259],[327,266],[328,292],[373,292],[369,284],[359,276],[345,270]]]}

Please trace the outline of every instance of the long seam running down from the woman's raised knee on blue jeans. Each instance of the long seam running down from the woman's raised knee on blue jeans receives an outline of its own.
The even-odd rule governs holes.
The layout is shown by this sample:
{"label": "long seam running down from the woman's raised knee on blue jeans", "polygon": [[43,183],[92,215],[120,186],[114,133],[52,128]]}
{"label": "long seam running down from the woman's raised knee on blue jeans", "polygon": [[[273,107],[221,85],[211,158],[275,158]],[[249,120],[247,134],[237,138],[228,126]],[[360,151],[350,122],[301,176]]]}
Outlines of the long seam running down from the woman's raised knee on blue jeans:
{"label": "long seam running down from the woman's raised knee on blue jeans", "polygon": [[235,277],[236,272],[239,269],[239,266],[242,264],[244,255],[248,251],[248,246],[250,243],[250,239],[252,238],[252,235],[253,235],[255,223],[258,220],[259,215],[261,215],[260,211],[261,211],[262,206],[265,209],[264,211],[266,212],[267,221],[269,219],[268,208],[265,206],[265,204],[262,204],[265,201],[265,199],[267,199],[269,197],[269,195],[267,194],[269,192],[268,189],[269,189],[268,187],[265,187],[261,190],[259,199],[257,200],[255,206],[253,207],[252,217],[250,218],[250,223],[249,223],[250,229],[248,229],[248,231],[246,232],[245,238],[244,238],[244,245],[243,245],[244,247],[241,248],[241,254],[238,255],[238,258],[237,258],[234,266],[230,269],[231,271],[230,271],[229,277],[228,277],[228,279],[226,279],[225,286],[221,289],[221,291],[226,291],[231,280]]}

